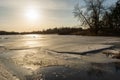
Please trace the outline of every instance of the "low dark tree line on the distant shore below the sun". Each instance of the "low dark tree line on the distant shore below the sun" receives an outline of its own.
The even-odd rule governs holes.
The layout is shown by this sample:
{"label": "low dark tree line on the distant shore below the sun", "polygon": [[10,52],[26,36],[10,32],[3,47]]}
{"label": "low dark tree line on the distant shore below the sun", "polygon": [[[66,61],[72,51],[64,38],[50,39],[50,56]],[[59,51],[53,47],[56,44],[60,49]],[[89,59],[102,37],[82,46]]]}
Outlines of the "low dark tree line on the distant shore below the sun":
{"label": "low dark tree line on the distant shore below the sun", "polygon": [[38,30],[32,32],[7,32],[0,31],[0,35],[17,35],[17,34],[60,34],[60,35],[73,35],[80,34],[83,31],[82,28],[74,27],[60,27],[60,28],[49,28],[46,30]]}

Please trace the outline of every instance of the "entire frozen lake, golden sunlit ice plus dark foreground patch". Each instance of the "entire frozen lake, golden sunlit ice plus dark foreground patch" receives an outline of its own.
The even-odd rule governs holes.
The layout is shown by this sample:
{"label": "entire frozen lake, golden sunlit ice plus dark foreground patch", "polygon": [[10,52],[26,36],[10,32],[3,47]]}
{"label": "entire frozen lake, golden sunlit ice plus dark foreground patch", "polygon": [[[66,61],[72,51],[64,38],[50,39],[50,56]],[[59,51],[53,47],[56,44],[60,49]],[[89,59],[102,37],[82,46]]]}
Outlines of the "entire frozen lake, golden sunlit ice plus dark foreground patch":
{"label": "entire frozen lake, golden sunlit ice plus dark foreground patch", "polygon": [[20,80],[119,80],[119,60],[102,54],[108,49],[120,50],[120,38],[0,36],[0,60]]}

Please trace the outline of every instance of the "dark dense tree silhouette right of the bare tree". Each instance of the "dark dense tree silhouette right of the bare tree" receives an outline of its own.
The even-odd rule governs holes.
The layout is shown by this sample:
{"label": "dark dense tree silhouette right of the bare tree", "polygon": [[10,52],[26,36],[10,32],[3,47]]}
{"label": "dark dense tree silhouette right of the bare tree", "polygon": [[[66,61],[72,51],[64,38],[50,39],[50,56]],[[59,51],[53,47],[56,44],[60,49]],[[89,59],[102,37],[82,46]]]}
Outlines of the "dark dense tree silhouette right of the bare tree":
{"label": "dark dense tree silhouette right of the bare tree", "polygon": [[102,22],[104,32],[112,35],[120,34],[120,0],[105,12]]}

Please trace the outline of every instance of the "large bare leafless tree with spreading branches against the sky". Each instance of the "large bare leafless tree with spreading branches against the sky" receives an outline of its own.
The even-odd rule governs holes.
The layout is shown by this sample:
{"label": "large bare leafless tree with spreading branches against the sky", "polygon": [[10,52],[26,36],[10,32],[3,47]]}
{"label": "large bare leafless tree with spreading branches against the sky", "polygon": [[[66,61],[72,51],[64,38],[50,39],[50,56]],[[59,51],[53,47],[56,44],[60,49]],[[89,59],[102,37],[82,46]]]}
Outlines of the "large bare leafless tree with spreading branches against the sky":
{"label": "large bare leafless tree with spreading branches against the sky", "polygon": [[79,3],[75,6],[73,13],[84,26],[88,26],[92,32],[97,34],[101,29],[100,20],[104,12],[105,0],[83,0],[84,7]]}

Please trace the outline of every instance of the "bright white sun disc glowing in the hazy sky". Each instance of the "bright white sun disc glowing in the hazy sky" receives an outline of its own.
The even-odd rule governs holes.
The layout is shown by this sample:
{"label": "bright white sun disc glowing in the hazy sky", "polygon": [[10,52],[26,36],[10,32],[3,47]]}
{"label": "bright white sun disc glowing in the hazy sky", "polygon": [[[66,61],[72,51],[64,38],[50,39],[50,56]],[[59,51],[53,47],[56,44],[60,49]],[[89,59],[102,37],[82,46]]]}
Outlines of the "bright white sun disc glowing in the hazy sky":
{"label": "bright white sun disc glowing in the hazy sky", "polygon": [[37,10],[30,8],[26,10],[25,17],[30,21],[36,21],[40,18],[40,14]]}

